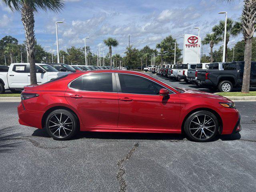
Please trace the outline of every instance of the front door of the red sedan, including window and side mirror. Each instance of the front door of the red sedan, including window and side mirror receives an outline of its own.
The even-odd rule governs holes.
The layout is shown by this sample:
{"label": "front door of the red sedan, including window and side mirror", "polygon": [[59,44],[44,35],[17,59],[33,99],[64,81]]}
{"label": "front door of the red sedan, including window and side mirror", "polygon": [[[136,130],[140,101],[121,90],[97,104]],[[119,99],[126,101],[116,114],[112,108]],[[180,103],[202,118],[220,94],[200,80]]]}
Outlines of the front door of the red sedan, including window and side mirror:
{"label": "front door of the red sedan, including window and side mirror", "polygon": [[180,98],[170,91],[163,97],[164,86],[143,76],[116,73],[119,99],[118,128],[138,130],[178,130]]}

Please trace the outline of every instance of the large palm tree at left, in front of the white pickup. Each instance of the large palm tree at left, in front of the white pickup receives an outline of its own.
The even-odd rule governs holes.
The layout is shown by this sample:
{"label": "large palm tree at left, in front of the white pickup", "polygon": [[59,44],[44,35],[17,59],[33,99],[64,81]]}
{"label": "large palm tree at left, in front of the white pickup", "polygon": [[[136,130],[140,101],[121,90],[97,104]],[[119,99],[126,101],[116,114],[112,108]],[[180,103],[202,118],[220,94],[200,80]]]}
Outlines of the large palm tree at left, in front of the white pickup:
{"label": "large palm tree at left, in front of the white pickup", "polygon": [[30,84],[37,84],[35,65],[34,13],[39,9],[59,12],[64,7],[63,0],[2,0],[12,11],[21,12],[22,23],[25,29],[26,46],[30,59]]}

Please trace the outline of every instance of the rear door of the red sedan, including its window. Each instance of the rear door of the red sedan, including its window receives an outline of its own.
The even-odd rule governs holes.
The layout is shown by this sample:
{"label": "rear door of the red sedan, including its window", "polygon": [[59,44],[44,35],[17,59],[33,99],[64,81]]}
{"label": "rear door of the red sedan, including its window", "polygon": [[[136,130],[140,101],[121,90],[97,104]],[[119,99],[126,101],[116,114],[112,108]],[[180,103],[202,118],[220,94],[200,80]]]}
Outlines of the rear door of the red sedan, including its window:
{"label": "rear door of the red sedan, including its window", "polygon": [[70,82],[65,97],[77,110],[84,126],[117,127],[119,106],[114,73],[80,76]]}

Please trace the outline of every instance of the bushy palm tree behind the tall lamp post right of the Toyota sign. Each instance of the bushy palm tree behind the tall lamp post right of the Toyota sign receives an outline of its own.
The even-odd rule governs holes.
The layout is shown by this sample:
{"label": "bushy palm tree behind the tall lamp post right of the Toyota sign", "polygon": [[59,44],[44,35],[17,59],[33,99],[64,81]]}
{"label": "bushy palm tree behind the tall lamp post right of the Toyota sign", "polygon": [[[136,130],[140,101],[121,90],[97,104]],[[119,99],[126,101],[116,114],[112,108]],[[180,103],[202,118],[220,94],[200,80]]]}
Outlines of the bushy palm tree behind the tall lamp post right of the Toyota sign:
{"label": "bushy palm tree behind the tall lamp post right of the Toyota sign", "polygon": [[[218,36],[221,37],[222,40],[224,39],[224,29],[225,29],[225,21],[220,20],[219,24],[215,25],[212,28],[212,31]],[[228,42],[230,39],[230,36],[237,36],[238,31],[234,28],[234,21],[231,18],[227,19],[227,33],[226,33],[226,52],[225,52],[225,61],[228,58]]]}

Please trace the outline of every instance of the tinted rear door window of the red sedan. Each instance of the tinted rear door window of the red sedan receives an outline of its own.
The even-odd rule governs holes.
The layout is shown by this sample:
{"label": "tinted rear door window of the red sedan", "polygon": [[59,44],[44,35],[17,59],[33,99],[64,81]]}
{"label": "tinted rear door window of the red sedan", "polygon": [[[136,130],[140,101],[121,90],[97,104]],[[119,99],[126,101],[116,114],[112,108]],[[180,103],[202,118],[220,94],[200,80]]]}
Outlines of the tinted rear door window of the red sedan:
{"label": "tinted rear door window of the red sedan", "polygon": [[84,75],[82,90],[113,92],[112,73]]}

